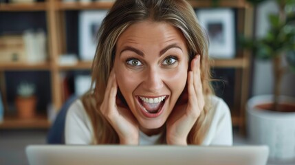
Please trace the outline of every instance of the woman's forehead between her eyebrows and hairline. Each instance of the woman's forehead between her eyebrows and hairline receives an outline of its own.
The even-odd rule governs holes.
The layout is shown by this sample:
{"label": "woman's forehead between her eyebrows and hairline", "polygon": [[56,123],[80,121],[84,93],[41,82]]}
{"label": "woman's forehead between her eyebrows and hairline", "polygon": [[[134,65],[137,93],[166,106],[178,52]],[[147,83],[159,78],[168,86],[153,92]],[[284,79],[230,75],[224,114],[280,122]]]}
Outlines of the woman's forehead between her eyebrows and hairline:
{"label": "woman's forehead between her eyebrows and hairline", "polygon": [[158,45],[175,42],[186,45],[182,31],[165,22],[141,21],[130,25],[120,35],[117,45],[120,47],[127,43]]}

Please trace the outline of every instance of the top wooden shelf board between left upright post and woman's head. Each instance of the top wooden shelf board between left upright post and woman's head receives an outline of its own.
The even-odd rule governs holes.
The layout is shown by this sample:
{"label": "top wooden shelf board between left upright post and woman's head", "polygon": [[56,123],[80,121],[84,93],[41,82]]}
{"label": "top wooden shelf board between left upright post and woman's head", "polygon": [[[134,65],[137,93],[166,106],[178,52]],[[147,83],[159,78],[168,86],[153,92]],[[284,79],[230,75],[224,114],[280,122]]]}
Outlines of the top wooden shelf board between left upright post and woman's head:
{"label": "top wooden shelf board between left upright post and woman's head", "polygon": [[109,9],[113,2],[56,2],[54,4],[57,10],[95,10]]}

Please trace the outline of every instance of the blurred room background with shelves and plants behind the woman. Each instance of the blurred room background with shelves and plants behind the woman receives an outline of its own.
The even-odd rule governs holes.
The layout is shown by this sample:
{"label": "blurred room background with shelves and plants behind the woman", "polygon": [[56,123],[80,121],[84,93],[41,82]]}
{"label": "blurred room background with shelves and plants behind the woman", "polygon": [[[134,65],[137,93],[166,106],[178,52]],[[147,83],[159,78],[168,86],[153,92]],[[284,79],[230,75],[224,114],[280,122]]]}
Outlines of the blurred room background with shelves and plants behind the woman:
{"label": "blurred room background with shelves and plants behind the woman", "polygon": [[[230,107],[234,145],[266,144],[269,164],[295,164],[295,1],[189,3],[210,40],[221,80],[212,86]],[[0,164],[28,164],[25,146],[54,143],[56,116],[90,87],[96,32],[112,4],[0,0]]]}

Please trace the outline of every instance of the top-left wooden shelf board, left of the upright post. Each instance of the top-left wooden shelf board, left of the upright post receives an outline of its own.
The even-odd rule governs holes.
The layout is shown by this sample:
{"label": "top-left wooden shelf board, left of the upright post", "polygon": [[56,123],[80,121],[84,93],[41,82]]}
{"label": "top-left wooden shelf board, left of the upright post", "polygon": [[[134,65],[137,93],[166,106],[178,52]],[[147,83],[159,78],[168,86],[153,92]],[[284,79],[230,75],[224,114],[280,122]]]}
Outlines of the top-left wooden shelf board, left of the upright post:
{"label": "top-left wooden shelf board, left of the upright post", "polygon": [[0,12],[36,12],[45,11],[46,2],[35,3],[0,3]]}

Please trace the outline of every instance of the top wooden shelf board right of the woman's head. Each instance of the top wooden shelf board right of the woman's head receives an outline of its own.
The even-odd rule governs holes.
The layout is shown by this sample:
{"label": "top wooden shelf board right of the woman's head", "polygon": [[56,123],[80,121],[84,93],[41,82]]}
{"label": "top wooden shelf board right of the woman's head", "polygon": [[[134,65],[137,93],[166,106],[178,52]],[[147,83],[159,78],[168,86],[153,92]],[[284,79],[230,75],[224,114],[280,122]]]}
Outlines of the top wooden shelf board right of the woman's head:
{"label": "top wooden shelf board right of the woman's head", "polygon": [[[204,1],[204,0],[188,0],[190,5],[193,8],[212,8],[214,4],[212,1]],[[249,3],[241,0],[222,0],[218,3],[219,8],[248,8],[250,6]]]}

